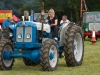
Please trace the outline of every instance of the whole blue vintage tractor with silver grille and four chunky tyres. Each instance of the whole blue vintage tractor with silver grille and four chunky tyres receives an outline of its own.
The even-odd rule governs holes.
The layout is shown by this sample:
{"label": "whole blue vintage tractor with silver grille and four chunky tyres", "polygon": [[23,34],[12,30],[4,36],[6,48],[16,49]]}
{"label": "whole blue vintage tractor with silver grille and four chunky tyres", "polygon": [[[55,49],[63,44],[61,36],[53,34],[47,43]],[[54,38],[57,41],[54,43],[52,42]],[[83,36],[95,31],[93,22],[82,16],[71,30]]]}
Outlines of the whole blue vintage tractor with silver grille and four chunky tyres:
{"label": "whole blue vintage tractor with silver grille and four chunky tyres", "polygon": [[[13,31],[3,32],[0,40],[0,69],[12,68],[14,58],[23,58],[27,66],[40,64],[42,70],[53,71],[57,68],[58,57],[64,52],[67,66],[80,66],[83,60],[84,44],[82,29],[74,23],[66,25],[58,35],[59,40],[53,39],[49,24],[32,21],[21,21],[9,26]],[[8,35],[7,35],[8,34]],[[9,38],[7,38],[9,36]]]}

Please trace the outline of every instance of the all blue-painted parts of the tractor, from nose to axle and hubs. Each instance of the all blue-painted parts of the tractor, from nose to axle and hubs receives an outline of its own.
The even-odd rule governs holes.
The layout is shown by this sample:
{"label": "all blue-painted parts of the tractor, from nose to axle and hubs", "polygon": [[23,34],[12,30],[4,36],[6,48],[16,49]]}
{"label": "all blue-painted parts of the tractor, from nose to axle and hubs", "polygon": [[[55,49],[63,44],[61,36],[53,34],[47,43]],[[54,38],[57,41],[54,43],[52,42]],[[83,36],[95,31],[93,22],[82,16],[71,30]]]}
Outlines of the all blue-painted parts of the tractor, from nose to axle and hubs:
{"label": "all blue-painted parts of the tractor, from nose to axle and hubs", "polygon": [[[32,37],[32,42],[24,42],[24,40],[23,40],[23,42],[16,41],[17,27],[21,26],[23,23],[26,26],[32,27],[32,36],[34,36],[34,37]],[[23,26],[23,34],[25,34],[26,26]],[[21,21],[21,22],[18,22],[16,25],[10,25],[9,27],[13,30],[15,49],[14,49],[13,53],[11,53],[10,51],[4,52],[4,54],[3,54],[4,60],[5,59],[10,60],[11,57],[12,58],[26,58],[33,62],[39,63],[40,62],[40,51],[41,51],[40,48],[42,47],[42,42],[36,41],[36,38],[37,38],[36,24],[33,22],[29,22],[29,21],[24,21],[24,22]],[[60,39],[60,34],[58,35],[58,37]],[[43,38],[53,39],[53,36],[51,33],[49,34],[49,33],[44,32]],[[62,54],[64,47],[59,45],[60,44],[59,40],[56,42],[57,42],[58,50]],[[22,51],[21,53],[20,53],[20,50]],[[54,54],[50,53],[49,58],[50,58],[50,60],[52,60],[54,58]]]}

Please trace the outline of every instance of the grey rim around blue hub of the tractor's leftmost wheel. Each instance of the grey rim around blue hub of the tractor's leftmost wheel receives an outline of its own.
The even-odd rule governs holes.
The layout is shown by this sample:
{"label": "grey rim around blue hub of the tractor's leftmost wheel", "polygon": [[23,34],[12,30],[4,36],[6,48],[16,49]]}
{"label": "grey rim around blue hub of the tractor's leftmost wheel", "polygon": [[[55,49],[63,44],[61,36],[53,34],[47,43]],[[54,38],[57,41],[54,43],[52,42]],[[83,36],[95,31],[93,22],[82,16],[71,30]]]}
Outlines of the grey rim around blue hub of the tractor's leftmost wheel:
{"label": "grey rim around blue hub of the tractor's leftmost wheel", "polygon": [[[3,53],[4,52],[13,52],[13,49],[12,49],[12,47],[10,46],[10,45],[6,45],[6,46],[4,46],[4,48],[3,48]],[[3,63],[4,63],[4,65],[6,66],[6,67],[9,67],[11,64],[12,64],[12,62],[13,62],[13,58],[12,59],[10,59],[10,60],[4,60],[3,59]]]}

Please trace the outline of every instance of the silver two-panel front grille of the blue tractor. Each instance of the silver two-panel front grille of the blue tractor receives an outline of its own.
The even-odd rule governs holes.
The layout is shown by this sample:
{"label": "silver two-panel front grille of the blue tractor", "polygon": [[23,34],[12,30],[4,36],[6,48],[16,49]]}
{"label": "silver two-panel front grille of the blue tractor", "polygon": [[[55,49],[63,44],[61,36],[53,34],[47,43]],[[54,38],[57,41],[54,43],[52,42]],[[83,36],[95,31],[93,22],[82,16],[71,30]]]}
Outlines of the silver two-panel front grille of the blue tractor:
{"label": "silver two-panel front grille of the blue tractor", "polygon": [[[16,31],[16,41],[17,42],[32,42],[32,27],[29,26],[19,26]],[[18,38],[18,35],[21,34],[21,38]],[[27,38],[27,34],[30,35],[30,38]]]}

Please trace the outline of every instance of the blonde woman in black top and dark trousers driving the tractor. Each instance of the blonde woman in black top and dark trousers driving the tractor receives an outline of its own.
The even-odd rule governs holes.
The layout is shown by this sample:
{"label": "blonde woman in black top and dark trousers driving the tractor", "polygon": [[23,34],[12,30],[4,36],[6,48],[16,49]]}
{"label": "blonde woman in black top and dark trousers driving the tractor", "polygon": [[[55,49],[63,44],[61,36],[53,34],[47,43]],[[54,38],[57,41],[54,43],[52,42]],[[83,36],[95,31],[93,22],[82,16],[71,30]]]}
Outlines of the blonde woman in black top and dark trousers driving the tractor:
{"label": "blonde woman in black top and dark trousers driving the tractor", "polygon": [[53,9],[49,10],[46,22],[51,26],[51,30],[54,33],[54,39],[58,40],[58,17],[55,15]]}

